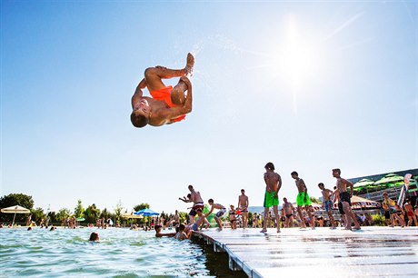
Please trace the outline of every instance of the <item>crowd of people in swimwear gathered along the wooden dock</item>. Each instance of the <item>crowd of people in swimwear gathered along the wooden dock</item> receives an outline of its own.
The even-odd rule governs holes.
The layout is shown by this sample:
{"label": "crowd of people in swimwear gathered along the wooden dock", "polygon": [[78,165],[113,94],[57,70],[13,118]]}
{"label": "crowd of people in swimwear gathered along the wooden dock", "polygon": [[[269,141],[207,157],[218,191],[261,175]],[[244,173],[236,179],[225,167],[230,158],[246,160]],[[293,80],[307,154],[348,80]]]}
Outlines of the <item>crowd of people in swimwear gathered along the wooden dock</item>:
{"label": "crowd of people in swimwear gathered along the wooden dock", "polygon": [[[315,219],[314,208],[308,194],[307,186],[304,183],[304,180],[299,177],[299,174],[295,171],[291,173],[298,191],[296,196],[296,208],[294,208],[294,204],[288,202],[287,198],[284,197],[282,211],[279,213],[279,192],[282,188],[282,178],[280,174],[274,172],[275,168],[273,163],[269,162],[265,164],[264,169],[264,215],[262,216],[263,219],[260,219],[260,214],[254,214],[253,227],[258,227],[260,224],[262,227],[260,233],[266,233],[267,227],[271,227],[271,223],[273,223],[277,233],[280,233],[281,227],[293,227],[294,220],[296,219],[301,228],[309,226],[310,228],[315,229],[315,223],[320,223],[321,219]],[[338,204],[343,229],[357,231],[361,230],[361,223],[372,223],[371,215],[363,213],[362,217],[364,219],[362,219],[362,217],[353,213],[351,204],[351,198],[353,197],[353,183],[344,179],[341,176],[341,170],[338,168],[333,169],[332,174],[336,179],[336,184],[333,187],[333,190],[325,188],[323,183],[318,184],[323,197],[323,209],[328,215],[330,228],[335,229],[338,225],[338,221],[336,221],[333,217],[333,205],[335,203]],[[193,204],[190,212],[188,213],[188,223],[180,224],[178,226],[179,228],[181,227],[180,232],[174,233],[173,236],[180,237],[182,239],[189,238],[192,231],[198,231],[204,227],[210,227],[207,217],[214,213],[214,211],[214,221],[218,226],[217,231],[222,231],[224,229],[222,217],[227,211],[226,207],[223,204],[215,203],[214,199],[211,198],[207,202],[207,204],[209,204],[209,210],[204,213],[204,200],[200,192],[196,191],[193,185],[188,185],[188,190],[190,191],[190,194],[179,198],[179,200],[184,203]],[[248,196],[245,195],[245,190],[242,189],[241,195],[239,195],[238,198],[238,205],[236,209],[232,204],[229,207],[229,224],[232,229],[236,229],[237,227],[237,218],[240,219],[244,229],[248,227],[248,205]],[[396,213],[396,205],[397,204],[395,204],[394,201],[387,197],[387,194],[383,194],[383,209],[389,215],[388,218],[392,222],[391,226],[395,225],[395,222],[398,221],[398,223],[400,223],[403,227],[405,225],[405,221]],[[273,214],[271,212],[271,208],[273,208]],[[414,223],[417,225],[416,215],[409,200],[405,203],[405,211],[407,212],[408,217],[410,217],[408,224],[411,225]],[[179,222],[176,221],[176,223]],[[323,226],[323,224],[320,226]],[[161,228],[161,226],[159,227]],[[163,236],[165,234],[168,235],[168,233],[161,233],[161,230],[157,232],[157,236]]]}

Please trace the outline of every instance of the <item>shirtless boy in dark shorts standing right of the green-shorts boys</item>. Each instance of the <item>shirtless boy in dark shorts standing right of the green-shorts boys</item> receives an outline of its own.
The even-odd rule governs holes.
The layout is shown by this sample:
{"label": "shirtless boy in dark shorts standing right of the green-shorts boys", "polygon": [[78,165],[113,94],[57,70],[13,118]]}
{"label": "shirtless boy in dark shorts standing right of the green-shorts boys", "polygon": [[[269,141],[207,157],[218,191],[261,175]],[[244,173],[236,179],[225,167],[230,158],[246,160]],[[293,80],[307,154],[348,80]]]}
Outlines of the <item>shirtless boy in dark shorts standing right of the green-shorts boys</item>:
{"label": "shirtless boy in dark shorts standing right of the green-shorts boys", "polygon": [[[360,223],[351,208],[351,197],[353,197],[353,183],[341,177],[340,169],[333,169],[333,177],[337,179],[337,189],[340,193],[340,201],[343,204],[343,211],[345,213],[345,229],[351,230],[352,220],[354,223],[353,230],[360,230]],[[347,192],[347,185],[350,186],[350,193]]]}

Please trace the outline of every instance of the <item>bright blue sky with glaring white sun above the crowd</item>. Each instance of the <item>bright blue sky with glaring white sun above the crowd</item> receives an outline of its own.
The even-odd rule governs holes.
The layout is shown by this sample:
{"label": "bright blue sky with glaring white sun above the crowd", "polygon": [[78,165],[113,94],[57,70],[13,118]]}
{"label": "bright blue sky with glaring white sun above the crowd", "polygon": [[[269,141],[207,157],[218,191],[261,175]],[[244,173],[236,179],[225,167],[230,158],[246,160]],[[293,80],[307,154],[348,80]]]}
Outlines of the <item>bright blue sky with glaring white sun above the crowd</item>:
{"label": "bright blue sky with glaring white sun above the crowd", "polygon": [[[319,196],[418,165],[416,1],[2,1],[1,25],[0,195],[173,212],[188,184],[263,205],[269,161],[292,201],[292,171]],[[188,52],[192,114],[134,128],[144,69]]]}

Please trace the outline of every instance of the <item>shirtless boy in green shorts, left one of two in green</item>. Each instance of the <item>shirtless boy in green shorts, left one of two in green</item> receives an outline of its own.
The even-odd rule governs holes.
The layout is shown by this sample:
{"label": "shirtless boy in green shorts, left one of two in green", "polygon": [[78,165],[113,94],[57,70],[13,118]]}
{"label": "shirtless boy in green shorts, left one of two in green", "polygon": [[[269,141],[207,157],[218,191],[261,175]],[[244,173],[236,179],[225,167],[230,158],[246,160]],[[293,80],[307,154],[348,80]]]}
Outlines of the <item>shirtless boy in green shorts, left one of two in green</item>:
{"label": "shirtless boy in green shorts, left one of two in green", "polygon": [[274,216],[277,223],[277,233],[280,233],[280,216],[277,205],[279,205],[279,190],[282,187],[282,178],[280,174],[274,172],[274,164],[268,163],[264,166],[264,227],[260,233],[267,232],[267,216],[270,208],[273,206]]}

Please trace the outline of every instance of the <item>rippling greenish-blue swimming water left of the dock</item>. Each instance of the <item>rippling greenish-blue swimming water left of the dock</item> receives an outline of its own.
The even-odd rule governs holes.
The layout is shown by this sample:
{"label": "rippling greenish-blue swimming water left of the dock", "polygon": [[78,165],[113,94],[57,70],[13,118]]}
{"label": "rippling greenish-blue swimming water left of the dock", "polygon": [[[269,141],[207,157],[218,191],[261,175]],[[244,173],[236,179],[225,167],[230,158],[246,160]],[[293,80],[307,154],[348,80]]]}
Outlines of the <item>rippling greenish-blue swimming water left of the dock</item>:
{"label": "rippling greenish-blue swimming water left of the dock", "polygon": [[[92,232],[100,234],[100,243],[88,242]],[[235,276],[226,254],[190,241],[155,238],[151,232],[20,228],[0,229],[0,238],[0,273],[5,277]]]}

